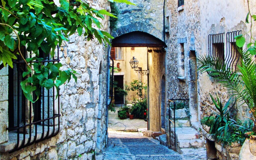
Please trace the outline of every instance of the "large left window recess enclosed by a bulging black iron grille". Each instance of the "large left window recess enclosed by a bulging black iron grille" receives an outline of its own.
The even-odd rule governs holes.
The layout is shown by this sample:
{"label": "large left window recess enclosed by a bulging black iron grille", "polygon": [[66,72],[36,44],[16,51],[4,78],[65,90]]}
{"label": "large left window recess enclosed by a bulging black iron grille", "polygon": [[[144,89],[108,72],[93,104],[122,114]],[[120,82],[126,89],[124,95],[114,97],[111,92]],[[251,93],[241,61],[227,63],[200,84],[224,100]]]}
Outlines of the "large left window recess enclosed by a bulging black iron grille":
{"label": "large left window recess enclosed by a bulging black iron grille", "polygon": [[[31,52],[27,54],[25,47],[23,53],[25,57],[30,55],[31,58]],[[48,62],[59,62],[59,47],[57,46],[57,59],[51,59],[50,54],[46,55],[41,49],[39,49],[39,56],[44,57],[45,60],[41,61],[44,65]],[[39,61],[29,64],[35,62]],[[20,86],[20,82],[25,79],[22,77],[22,73],[26,70],[26,63],[18,55],[13,64],[14,68],[9,68],[8,75],[9,127],[7,130],[9,131],[9,141],[16,141],[16,144],[9,153],[54,137],[60,131],[60,97],[55,99],[55,88],[50,90],[41,88],[41,96],[35,103],[31,103],[25,98]],[[31,77],[31,74],[29,76]],[[16,137],[16,140],[11,140],[10,135]]]}

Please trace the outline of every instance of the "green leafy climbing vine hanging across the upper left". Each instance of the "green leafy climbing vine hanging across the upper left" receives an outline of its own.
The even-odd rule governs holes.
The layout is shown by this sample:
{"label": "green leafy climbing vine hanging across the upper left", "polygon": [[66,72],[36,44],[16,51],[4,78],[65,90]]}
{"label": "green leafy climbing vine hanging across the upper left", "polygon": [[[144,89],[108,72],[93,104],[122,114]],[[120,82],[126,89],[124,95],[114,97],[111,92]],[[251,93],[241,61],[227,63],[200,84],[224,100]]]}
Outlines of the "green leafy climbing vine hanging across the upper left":
{"label": "green leafy climbing vine hanging across the upper left", "polygon": [[[134,5],[127,0],[109,1]],[[41,63],[46,57],[39,55],[39,49],[47,53],[46,56],[50,53],[52,58],[56,46],[60,46],[63,40],[68,41],[68,36],[75,32],[88,41],[97,38],[100,44],[110,44],[109,39],[113,37],[101,30],[99,21],[104,15],[116,18],[106,10],[92,8],[84,0],[1,0],[0,69],[7,64],[13,68],[17,55],[22,57],[27,70],[23,72],[26,79],[20,85],[29,101],[38,99],[41,87],[47,90],[56,87],[58,90],[71,77],[76,81],[76,71],[61,71],[61,63]],[[25,53],[21,51],[24,47],[32,53],[31,58],[24,57]],[[32,97],[32,92],[37,98]]]}

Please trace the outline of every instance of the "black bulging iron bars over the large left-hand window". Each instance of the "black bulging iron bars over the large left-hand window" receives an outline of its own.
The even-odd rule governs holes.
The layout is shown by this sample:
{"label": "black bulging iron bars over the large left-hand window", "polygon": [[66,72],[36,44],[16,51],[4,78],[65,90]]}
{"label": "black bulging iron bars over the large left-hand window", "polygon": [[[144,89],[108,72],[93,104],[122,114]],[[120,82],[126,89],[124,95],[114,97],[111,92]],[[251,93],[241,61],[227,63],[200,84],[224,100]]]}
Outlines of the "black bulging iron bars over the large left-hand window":
{"label": "black bulging iron bars over the large left-hand window", "polygon": [[[27,53],[26,49],[24,49],[24,53]],[[31,58],[31,52],[30,52],[30,58]],[[26,55],[26,54],[24,54]],[[42,63],[43,65],[45,63],[48,62],[59,62],[59,46],[57,46],[57,59],[53,58],[52,60],[50,59],[50,54],[48,54],[47,56],[45,56],[45,53],[39,49],[39,56],[44,57],[45,60],[40,61],[40,63]],[[37,63],[39,61],[32,61],[31,63]],[[17,75],[22,74],[22,70],[20,70],[20,68],[24,68],[25,66],[25,61],[20,60],[20,57],[18,56],[18,59],[15,60],[13,62],[16,65],[17,68]],[[50,73],[48,73],[49,76]],[[14,77],[14,75],[9,75],[9,77]],[[30,74],[31,77],[31,74]],[[41,89],[41,96],[39,97],[39,100],[37,101],[37,103],[34,103],[34,107],[33,104],[29,101],[29,111],[26,111],[26,106],[28,103],[28,100],[26,100],[23,92],[20,94],[20,91],[22,91],[20,89],[20,79],[19,77],[17,77],[17,84],[15,86],[15,83],[13,83],[14,85],[11,87],[16,87],[17,88],[17,94],[15,95],[13,93],[13,100],[14,100],[14,96],[17,97],[17,125],[12,126],[12,127],[8,127],[6,128],[9,133],[16,133],[17,134],[17,143],[14,147],[13,150],[11,150],[9,153],[15,152],[17,150],[20,150],[24,147],[30,146],[34,143],[49,139],[51,137],[56,136],[59,131],[60,131],[60,97],[59,97],[59,91],[58,92],[58,97],[57,97],[57,108],[55,107],[55,88],[52,88],[52,95],[50,94],[50,90],[47,91],[47,95],[45,92],[45,89],[42,88]],[[45,104],[45,98],[47,97],[47,104]],[[50,102],[50,97],[52,97],[52,101]],[[14,104],[14,103],[13,103]],[[20,105],[21,104],[21,105]],[[21,108],[20,108],[21,107]],[[45,115],[45,107],[47,107],[47,115]],[[32,120],[32,109],[34,110],[34,119]],[[14,108],[13,108],[14,110]],[[20,110],[22,110],[22,113],[20,113]],[[57,111],[56,111],[57,110]],[[29,112],[29,113],[28,113]],[[51,113],[50,113],[51,112]],[[57,112],[57,113],[56,113]],[[15,112],[13,112],[14,114]],[[20,115],[22,114],[22,115]],[[26,120],[26,115],[28,115],[29,120],[27,123]],[[21,119],[23,120],[23,122],[20,122],[20,117],[22,117]],[[55,124],[55,120],[56,118],[58,119],[58,124]],[[45,122],[47,122],[45,124]],[[56,125],[57,125],[57,130],[56,130]],[[38,132],[38,130],[40,130],[41,126],[41,133]],[[51,130],[51,134],[50,134],[50,126],[52,128]],[[46,135],[45,135],[45,127],[47,129]],[[27,131],[28,130],[28,131]],[[33,133],[32,133],[33,132]],[[26,134],[27,133],[27,134]],[[20,143],[20,134],[23,134],[22,137],[22,142]],[[34,134],[34,135],[32,135]],[[41,136],[39,137],[39,134],[41,134]],[[26,136],[28,135],[28,136]],[[32,136],[34,136],[33,140],[32,140]],[[31,141],[32,140],[32,141]]]}

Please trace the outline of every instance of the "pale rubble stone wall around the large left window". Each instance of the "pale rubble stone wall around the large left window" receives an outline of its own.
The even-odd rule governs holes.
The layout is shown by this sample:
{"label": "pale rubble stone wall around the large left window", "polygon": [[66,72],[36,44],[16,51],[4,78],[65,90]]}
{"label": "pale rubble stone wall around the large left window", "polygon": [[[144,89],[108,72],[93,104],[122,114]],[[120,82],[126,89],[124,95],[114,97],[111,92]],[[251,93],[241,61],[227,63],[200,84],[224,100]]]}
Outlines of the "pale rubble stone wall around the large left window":
{"label": "pale rubble stone wall around the large left window", "polygon": [[[106,9],[106,0],[90,1],[96,9]],[[102,21],[102,30],[109,31],[108,17]],[[60,133],[56,137],[25,147],[14,153],[0,153],[0,159],[92,159],[106,144],[105,103],[107,49],[97,40],[87,42],[77,34],[69,37],[60,47],[62,69],[76,70],[78,80],[71,79],[61,86]],[[102,71],[100,71],[100,65]],[[101,73],[101,74],[99,74]],[[6,141],[5,128],[8,125],[8,93],[6,68],[0,72],[0,126],[1,143]],[[100,81],[100,83],[99,83]],[[8,95],[8,94],[6,94]],[[4,118],[4,119],[2,119]],[[96,149],[97,148],[97,149]]]}

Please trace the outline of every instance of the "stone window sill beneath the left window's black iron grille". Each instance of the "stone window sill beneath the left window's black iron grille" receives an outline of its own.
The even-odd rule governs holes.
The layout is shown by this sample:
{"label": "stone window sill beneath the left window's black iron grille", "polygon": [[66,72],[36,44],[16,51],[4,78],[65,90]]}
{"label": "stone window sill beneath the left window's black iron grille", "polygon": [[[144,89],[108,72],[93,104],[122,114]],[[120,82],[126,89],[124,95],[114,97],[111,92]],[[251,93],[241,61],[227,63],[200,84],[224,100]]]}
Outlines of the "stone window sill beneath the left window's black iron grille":
{"label": "stone window sill beneath the left window's black iron grille", "polygon": [[[44,127],[44,138],[46,137],[47,134],[47,130],[48,130],[48,126]],[[58,126],[55,126],[55,132],[58,130]],[[63,130],[63,126],[60,126],[60,131]],[[49,130],[49,135],[52,134],[53,131],[53,126],[50,126],[50,130]],[[41,125],[37,125],[37,137],[36,140],[39,140],[42,136],[42,126]],[[35,130],[34,132],[31,133],[31,140],[30,142],[32,142],[34,140],[35,137]],[[9,132],[8,133],[8,142],[0,144],[0,153],[1,152],[9,152],[12,151],[15,146],[17,145],[17,133],[12,133]],[[29,139],[29,134],[25,135],[25,144],[28,142]],[[19,147],[21,146],[23,142],[23,133],[19,134]]]}

